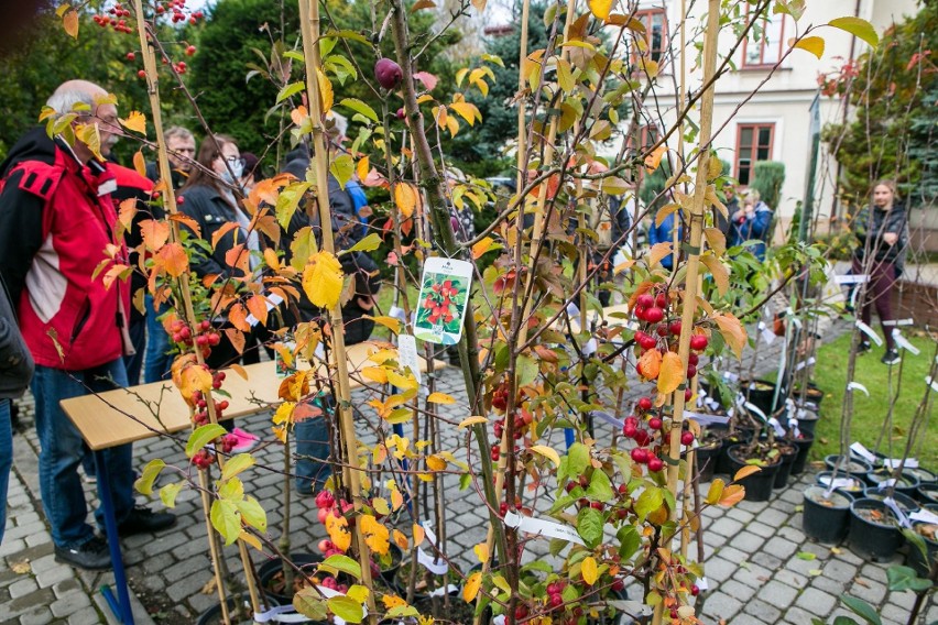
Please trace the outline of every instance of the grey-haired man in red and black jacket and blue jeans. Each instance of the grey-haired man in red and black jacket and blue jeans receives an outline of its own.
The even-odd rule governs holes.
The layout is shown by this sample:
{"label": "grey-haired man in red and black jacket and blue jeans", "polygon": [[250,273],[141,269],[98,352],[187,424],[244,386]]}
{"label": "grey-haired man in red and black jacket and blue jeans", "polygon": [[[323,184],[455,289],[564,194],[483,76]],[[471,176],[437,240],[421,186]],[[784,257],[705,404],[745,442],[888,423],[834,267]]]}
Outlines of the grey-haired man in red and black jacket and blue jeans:
{"label": "grey-haired man in red and black jacket and blue jeans", "polygon": [[[47,105],[73,121],[96,124],[102,145],[120,133],[117,108],[91,83],[69,80]],[[76,105],[79,107],[76,108]],[[76,133],[77,134],[77,133]],[[84,569],[111,566],[107,542],[86,523],[78,465],[88,453],[63,413],[62,399],[127,384],[121,355],[130,351],[127,284],[110,288],[103,272],[91,277],[114,238],[117,216],[109,191],[114,179],[80,141],[69,147],[36,128],[0,163],[0,275],[19,312],[20,330],[35,360],[40,489],[52,526],[55,559]],[[135,506],[130,445],[105,452],[118,528],[122,535],[168,527],[175,517]],[[96,512],[103,526],[101,511]]]}

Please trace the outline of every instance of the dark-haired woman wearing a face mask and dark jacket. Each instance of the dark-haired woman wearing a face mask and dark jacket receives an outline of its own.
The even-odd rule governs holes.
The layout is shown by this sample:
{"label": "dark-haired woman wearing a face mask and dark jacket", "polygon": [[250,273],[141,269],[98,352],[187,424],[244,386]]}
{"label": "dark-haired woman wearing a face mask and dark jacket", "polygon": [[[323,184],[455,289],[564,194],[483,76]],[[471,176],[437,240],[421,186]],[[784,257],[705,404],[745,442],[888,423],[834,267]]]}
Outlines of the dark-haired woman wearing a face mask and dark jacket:
{"label": "dark-haired woman wearing a face mask and dark jacket", "polygon": [[[233,139],[225,134],[206,136],[199,146],[196,162],[201,165],[193,171],[186,184],[179,189],[182,204],[179,210],[196,220],[201,239],[211,243],[216,232],[227,223],[238,223],[239,228],[228,230],[214,243],[211,253],[199,251],[192,259],[192,271],[201,281],[217,276],[216,281],[230,277],[244,277],[242,270],[228,264],[226,256],[236,244],[244,244],[250,259],[248,266],[254,271],[260,264],[260,237],[251,228],[251,218],[241,208],[239,198],[232,189],[241,190],[241,177],[244,174],[244,161]],[[223,311],[222,311],[223,312]],[[211,348],[206,363],[211,369],[222,369],[240,362],[241,354],[225,333],[226,321],[217,315],[214,319],[220,333],[220,342]],[[222,425],[230,427],[231,421]],[[236,452],[253,447],[258,437],[241,428],[230,430],[239,439]]]}

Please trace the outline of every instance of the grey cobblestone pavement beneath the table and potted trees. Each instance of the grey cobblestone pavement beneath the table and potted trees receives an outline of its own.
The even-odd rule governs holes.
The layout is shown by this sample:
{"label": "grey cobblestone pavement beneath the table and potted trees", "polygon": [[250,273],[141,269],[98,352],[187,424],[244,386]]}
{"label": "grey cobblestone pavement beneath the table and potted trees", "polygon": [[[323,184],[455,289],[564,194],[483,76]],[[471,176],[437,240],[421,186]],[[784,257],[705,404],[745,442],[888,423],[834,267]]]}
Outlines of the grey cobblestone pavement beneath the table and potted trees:
{"label": "grey cobblestone pavement beneath the table and potted trees", "polygon": [[[781,341],[778,341],[781,342]],[[760,371],[777,366],[778,347],[761,348]],[[748,362],[744,357],[744,362]],[[440,372],[437,390],[457,397],[447,406],[454,419],[466,413],[466,395],[461,375],[454,369]],[[461,407],[460,407],[461,406]],[[112,583],[111,573],[89,573],[59,564],[53,559],[52,541],[40,502],[36,452],[37,441],[32,428],[32,406],[23,403],[23,431],[14,437],[14,470],[7,501],[6,538],[0,546],[0,622],[17,624],[68,623],[86,625],[112,622],[97,591]],[[359,417],[364,418],[364,417]],[[242,427],[265,434],[270,438],[270,421],[265,415],[246,419]],[[364,424],[359,432],[366,442]],[[608,427],[603,436],[609,435]],[[455,428],[444,432],[444,448],[461,443]],[[558,441],[553,441],[559,445]],[[259,453],[259,464],[280,467],[281,451],[270,447]],[[178,442],[153,439],[135,446],[135,458],[142,467],[153,458],[167,463],[182,463],[184,454]],[[264,505],[270,531],[279,538],[282,511],[276,507],[282,492],[282,478],[254,468],[243,474],[246,485]],[[731,509],[709,508],[705,512],[705,567],[710,591],[701,621],[739,625],[790,623],[807,625],[811,617],[832,622],[847,614],[838,596],[850,593],[879,606],[883,623],[906,623],[913,595],[892,593],[886,588],[886,568],[901,562],[869,562],[853,555],[846,545],[830,548],[814,544],[801,533],[801,486],[810,481],[806,474],[784,491],[776,491],[770,503],[742,502]],[[487,517],[470,489],[458,491],[456,476],[445,481],[447,486],[447,534],[449,552],[458,564],[473,561],[472,546],[486,535]],[[95,501],[94,486],[86,486],[89,501]],[[159,506],[161,504],[153,504]],[[200,505],[192,492],[184,491],[177,501],[177,525],[157,536],[135,536],[123,540],[124,559],[133,593],[154,614],[156,623],[194,623],[197,614],[216,603],[208,588],[211,579],[205,523]],[[291,539],[294,550],[315,551],[325,533],[316,522],[312,497],[294,502],[291,508]],[[537,544],[539,541],[535,541]],[[691,546],[691,553],[695,549]],[[546,541],[528,550],[532,557],[546,552]],[[799,553],[814,553],[808,560]],[[240,570],[233,548],[226,550],[232,570]],[[263,556],[254,555],[255,562]],[[636,597],[639,589],[630,589]],[[160,601],[157,601],[160,600]],[[139,607],[139,606],[138,606]],[[929,604],[921,623],[938,619],[938,606]],[[151,623],[151,615],[140,612],[138,623]]]}

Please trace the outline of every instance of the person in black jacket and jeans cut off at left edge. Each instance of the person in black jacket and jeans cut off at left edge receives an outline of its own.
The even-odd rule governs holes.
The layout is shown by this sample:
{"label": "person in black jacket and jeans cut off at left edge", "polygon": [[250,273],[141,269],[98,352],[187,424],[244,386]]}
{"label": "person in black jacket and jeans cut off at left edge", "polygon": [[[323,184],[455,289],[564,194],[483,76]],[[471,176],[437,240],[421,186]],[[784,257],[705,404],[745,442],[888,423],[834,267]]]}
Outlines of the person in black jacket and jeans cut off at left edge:
{"label": "person in black jacket and jeans cut off at left edge", "polygon": [[20,335],[7,285],[0,277],[0,542],[7,525],[7,485],[13,468],[10,408],[33,379],[33,357]]}

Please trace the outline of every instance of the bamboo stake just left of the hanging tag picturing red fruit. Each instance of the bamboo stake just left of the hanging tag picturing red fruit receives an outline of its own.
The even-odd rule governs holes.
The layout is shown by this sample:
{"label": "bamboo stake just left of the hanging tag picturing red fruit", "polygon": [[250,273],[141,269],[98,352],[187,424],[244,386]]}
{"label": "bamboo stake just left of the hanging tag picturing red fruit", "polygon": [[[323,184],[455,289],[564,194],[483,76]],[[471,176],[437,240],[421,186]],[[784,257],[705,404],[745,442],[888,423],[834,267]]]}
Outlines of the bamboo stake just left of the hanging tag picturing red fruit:
{"label": "bamboo stake just left of the hanging tag picturing red fruit", "polygon": [[[306,61],[306,89],[309,98],[309,116],[313,119],[313,146],[314,163],[316,169],[316,204],[319,207],[319,226],[323,229],[323,249],[331,254],[336,253],[335,234],[332,232],[332,216],[329,208],[329,164],[326,145],[326,135],[323,128],[323,110],[320,106],[318,73],[321,72],[321,59],[319,58],[319,3],[315,0],[299,0],[299,28],[303,35],[303,53]],[[351,412],[351,390],[349,384],[348,358],[346,353],[346,341],[342,327],[341,306],[336,303],[329,311],[332,322],[332,349],[331,365],[335,368],[338,382],[338,397],[336,397],[339,427],[342,432],[345,445],[346,468],[343,469],[346,483],[352,498],[356,513],[361,512],[361,469],[358,459],[358,438],[355,434],[355,421]],[[361,581],[369,590],[373,591],[371,581],[371,557],[368,544],[361,537],[361,527],[355,524],[352,537],[358,548],[359,563],[361,564]],[[374,611],[374,593],[368,593],[369,619],[374,623],[377,615]]]}

